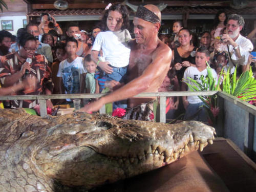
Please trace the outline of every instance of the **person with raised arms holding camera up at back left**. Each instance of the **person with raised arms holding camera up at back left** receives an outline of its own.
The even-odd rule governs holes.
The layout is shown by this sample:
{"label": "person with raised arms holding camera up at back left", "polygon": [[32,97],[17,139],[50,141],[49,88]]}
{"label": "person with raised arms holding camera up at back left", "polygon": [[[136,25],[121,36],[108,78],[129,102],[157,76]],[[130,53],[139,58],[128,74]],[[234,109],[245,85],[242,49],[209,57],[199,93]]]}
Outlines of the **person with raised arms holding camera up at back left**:
{"label": "person with raised arms holding camera up at back left", "polygon": [[49,28],[50,23],[54,24],[56,31],[59,35],[63,34],[61,28],[59,27],[59,24],[57,24],[55,18],[52,15],[50,15],[49,13],[41,13],[41,23],[38,26],[40,35],[48,33],[49,30],[51,30],[51,28]]}

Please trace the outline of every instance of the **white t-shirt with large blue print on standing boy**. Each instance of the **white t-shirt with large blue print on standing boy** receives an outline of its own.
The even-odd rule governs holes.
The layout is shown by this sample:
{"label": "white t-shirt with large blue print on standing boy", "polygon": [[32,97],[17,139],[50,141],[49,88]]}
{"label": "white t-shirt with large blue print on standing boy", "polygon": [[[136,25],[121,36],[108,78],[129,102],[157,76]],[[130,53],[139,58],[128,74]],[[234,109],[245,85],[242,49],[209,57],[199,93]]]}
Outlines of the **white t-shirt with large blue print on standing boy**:
{"label": "white t-shirt with large blue print on standing boy", "polygon": [[80,74],[86,72],[83,58],[76,57],[72,62],[65,59],[59,63],[57,77],[62,77],[67,93],[80,93]]}

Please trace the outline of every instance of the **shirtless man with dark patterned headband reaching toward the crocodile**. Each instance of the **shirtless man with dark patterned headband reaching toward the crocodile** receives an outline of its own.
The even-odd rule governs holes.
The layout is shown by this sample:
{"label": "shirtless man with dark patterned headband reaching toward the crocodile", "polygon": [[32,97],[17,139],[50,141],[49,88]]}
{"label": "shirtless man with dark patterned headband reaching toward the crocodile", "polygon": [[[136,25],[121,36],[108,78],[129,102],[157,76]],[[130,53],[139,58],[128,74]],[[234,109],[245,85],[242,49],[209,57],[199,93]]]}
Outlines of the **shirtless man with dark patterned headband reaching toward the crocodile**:
{"label": "shirtless man with dark patterned headband reaching toward the crocodile", "polygon": [[[129,98],[126,114],[137,111],[136,108],[144,110],[144,106],[156,99],[132,98],[142,92],[158,92],[170,66],[172,51],[158,38],[158,30],[161,23],[161,12],[154,5],[139,6],[133,20],[135,39],[131,42],[131,55],[128,67],[129,83],[109,95],[101,97],[99,100],[84,106],[81,111],[98,111],[105,103],[119,101]],[[153,109],[144,110],[147,114],[139,112],[136,118],[140,120],[150,120],[148,116]],[[134,112],[133,112],[134,113]],[[126,116],[126,115],[125,115]],[[125,117],[133,118],[134,117]]]}

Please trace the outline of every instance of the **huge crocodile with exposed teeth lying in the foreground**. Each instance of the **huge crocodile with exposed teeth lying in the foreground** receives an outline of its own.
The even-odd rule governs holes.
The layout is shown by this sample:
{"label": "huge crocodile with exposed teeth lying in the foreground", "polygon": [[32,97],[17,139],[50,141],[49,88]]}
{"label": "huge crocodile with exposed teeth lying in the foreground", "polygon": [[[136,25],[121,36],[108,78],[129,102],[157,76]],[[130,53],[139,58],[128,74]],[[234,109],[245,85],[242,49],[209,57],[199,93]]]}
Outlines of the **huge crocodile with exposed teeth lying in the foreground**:
{"label": "huge crocodile with exposed teeth lying in the foreground", "polygon": [[214,140],[213,127],[75,112],[0,109],[0,191],[88,189],[165,166]]}

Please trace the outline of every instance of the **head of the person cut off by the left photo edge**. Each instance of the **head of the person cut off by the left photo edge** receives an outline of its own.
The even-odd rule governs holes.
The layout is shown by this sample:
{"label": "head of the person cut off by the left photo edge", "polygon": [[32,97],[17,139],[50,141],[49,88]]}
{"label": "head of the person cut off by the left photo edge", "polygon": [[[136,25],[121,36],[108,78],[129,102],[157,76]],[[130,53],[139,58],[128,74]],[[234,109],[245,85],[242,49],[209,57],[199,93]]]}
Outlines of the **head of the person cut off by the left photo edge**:
{"label": "head of the person cut off by the left photo edge", "polygon": [[0,31],[0,56],[7,55],[12,44],[12,34],[8,31]]}

